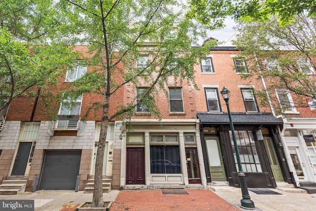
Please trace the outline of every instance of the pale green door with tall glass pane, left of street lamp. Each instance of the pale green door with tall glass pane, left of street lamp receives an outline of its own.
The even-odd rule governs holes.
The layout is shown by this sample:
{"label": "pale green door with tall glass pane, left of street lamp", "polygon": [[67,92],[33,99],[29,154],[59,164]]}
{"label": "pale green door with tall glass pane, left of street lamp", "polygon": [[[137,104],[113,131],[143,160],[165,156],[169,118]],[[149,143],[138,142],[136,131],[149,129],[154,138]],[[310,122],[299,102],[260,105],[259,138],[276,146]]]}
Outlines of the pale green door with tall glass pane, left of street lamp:
{"label": "pale green door with tall glass pane, left of street lamp", "polygon": [[217,137],[207,137],[205,140],[209,171],[212,181],[227,181],[223,156]]}

